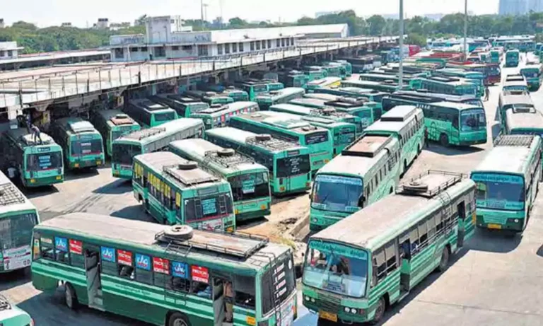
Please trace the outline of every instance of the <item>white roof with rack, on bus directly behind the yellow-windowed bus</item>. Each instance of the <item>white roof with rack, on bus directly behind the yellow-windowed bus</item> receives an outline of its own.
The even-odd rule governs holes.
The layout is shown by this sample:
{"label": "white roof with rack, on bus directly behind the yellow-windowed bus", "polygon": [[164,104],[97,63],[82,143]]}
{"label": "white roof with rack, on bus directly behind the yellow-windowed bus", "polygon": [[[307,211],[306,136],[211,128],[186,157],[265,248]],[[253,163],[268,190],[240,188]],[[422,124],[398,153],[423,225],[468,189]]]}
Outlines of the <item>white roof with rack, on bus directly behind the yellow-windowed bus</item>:
{"label": "white roof with rack, on bus directly behind the yellow-windowed bus", "polygon": [[268,171],[264,165],[255,163],[253,158],[241,153],[223,154],[223,147],[205,139],[183,139],[172,141],[169,145],[173,153],[182,153],[182,157],[196,161],[202,168],[209,168],[223,177],[250,172]]}

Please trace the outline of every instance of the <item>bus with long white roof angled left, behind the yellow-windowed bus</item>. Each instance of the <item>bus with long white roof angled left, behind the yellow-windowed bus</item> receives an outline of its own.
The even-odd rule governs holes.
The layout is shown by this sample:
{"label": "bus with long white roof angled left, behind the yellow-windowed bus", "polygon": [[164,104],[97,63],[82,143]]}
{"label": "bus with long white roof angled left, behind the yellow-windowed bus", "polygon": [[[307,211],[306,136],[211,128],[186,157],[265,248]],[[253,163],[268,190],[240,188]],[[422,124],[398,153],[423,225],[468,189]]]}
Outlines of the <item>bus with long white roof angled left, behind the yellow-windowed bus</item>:
{"label": "bus with long white roof angled left, behind the yellow-windowed bus", "polygon": [[132,180],[134,156],[164,151],[171,141],[200,138],[204,134],[202,119],[184,117],[160,127],[142,129],[113,141],[111,173],[114,177]]}

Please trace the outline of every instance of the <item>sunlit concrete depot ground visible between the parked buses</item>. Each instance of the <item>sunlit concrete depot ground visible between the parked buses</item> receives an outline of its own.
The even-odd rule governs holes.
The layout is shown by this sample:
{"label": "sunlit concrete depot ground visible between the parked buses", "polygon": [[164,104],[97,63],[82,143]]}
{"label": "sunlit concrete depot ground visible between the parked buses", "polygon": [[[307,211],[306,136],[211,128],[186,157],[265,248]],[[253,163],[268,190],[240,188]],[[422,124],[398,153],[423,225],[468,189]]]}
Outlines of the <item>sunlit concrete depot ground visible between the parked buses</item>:
{"label": "sunlit concrete depot ground visible between the parked buses", "polygon": [[[524,64],[522,59],[518,68],[503,69],[502,76],[518,71]],[[491,149],[492,138],[499,132],[495,115],[501,86],[492,86],[490,91],[490,100],[484,103],[489,141],[466,149],[430,144],[416,159],[404,180],[428,169],[469,173],[477,166],[486,151]],[[532,93],[532,99],[542,110],[543,90]],[[74,211],[153,221],[134,199],[130,183],[112,177],[110,168],[68,173],[66,181],[60,185],[25,193],[40,210],[42,221]],[[296,221],[307,219],[308,194],[274,199],[271,213],[267,219],[239,228],[268,235],[271,240],[291,243],[285,234],[293,226],[300,225]],[[300,238],[305,238],[308,226],[300,233]],[[64,305],[62,289],[53,296],[36,291],[30,281],[30,272],[0,274],[0,292],[30,313],[35,324],[40,326],[147,325],[90,308],[69,310]],[[317,324],[315,314],[301,304],[300,291],[298,320],[294,325]],[[428,276],[404,301],[387,311],[380,325],[543,325],[543,195],[539,194],[522,235],[508,237],[498,232],[477,230],[465,248],[452,257],[447,271]]]}

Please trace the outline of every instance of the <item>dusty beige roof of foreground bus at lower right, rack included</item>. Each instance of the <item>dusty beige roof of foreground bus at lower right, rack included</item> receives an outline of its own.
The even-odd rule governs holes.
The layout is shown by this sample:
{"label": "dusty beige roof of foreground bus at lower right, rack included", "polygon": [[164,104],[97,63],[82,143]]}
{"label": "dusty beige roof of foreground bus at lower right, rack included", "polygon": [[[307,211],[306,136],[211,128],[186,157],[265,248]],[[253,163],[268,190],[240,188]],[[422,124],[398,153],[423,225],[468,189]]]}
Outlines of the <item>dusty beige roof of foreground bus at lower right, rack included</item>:
{"label": "dusty beige roof of foreground bus at lower right, rack included", "polygon": [[341,219],[312,235],[310,241],[331,241],[376,250],[402,235],[424,216],[443,208],[443,195],[455,198],[475,187],[472,180],[462,179],[459,175],[450,173],[428,173],[417,177],[416,180],[428,185],[428,190],[404,193],[407,187],[400,185],[396,194],[384,197]]}

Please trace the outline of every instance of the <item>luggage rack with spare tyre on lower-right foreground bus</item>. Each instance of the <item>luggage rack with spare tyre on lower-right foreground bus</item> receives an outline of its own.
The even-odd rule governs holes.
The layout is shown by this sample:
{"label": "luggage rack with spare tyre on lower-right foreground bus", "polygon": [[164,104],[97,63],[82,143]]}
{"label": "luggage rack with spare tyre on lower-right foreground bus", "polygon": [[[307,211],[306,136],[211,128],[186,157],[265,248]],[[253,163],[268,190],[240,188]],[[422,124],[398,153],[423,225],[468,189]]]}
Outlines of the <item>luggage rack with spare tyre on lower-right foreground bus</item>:
{"label": "luggage rack with spare tyre on lower-right foreground bus", "polygon": [[[442,176],[432,180],[429,176]],[[414,177],[409,182],[403,183],[397,187],[397,194],[407,194],[426,198],[433,198],[436,195],[444,192],[452,185],[462,181],[467,175],[462,173],[428,170],[426,173],[421,173]]]}

